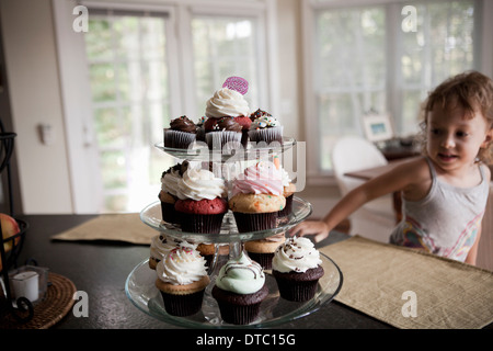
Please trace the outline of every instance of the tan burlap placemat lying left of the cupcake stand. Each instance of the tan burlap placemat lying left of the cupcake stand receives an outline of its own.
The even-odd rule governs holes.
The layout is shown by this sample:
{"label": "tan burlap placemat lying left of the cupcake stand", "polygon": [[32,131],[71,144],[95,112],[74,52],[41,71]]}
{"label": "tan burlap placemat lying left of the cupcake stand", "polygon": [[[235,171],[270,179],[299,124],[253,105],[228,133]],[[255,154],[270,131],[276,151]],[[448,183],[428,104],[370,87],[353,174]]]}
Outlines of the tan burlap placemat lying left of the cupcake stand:
{"label": "tan burlap placemat lying left of the cupcake stand", "polygon": [[140,220],[138,213],[105,214],[67,231],[51,236],[53,240],[113,240],[150,245],[158,231]]}

